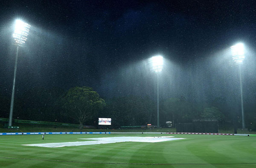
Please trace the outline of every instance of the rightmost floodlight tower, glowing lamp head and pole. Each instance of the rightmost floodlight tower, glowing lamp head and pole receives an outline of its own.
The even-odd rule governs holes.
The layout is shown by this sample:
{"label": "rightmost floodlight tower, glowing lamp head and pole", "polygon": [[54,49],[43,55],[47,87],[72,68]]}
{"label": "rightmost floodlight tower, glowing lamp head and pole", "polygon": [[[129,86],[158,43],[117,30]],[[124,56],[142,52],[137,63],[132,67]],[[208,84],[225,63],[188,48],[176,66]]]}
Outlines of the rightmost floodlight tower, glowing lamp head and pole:
{"label": "rightmost floodlight tower, glowing lamp head and pole", "polygon": [[231,46],[231,52],[234,62],[239,66],[239,79],[240,79],[240,93],[241,93],[241,111],[242,111],[242,129],[245,129],[244,124],[244,103],[243,103],[243,87],[242,87],[242,77],[241,77],[241,64],[244,60],[244,44],[238,43]]}

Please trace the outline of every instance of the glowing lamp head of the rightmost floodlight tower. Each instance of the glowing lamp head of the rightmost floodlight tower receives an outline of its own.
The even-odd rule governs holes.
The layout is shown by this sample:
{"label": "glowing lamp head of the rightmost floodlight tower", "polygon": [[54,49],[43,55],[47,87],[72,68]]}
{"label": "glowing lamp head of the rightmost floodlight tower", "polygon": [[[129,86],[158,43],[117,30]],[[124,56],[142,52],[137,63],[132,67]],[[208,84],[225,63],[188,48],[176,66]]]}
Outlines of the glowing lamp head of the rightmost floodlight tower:
{"label": "glowing lamp head of the rightmost floodlight tower", "polygon": [[238,43],[231,46],[231,52],[234,62],[236,62],[237,64],[242,64],[244,60],[244,44]]}

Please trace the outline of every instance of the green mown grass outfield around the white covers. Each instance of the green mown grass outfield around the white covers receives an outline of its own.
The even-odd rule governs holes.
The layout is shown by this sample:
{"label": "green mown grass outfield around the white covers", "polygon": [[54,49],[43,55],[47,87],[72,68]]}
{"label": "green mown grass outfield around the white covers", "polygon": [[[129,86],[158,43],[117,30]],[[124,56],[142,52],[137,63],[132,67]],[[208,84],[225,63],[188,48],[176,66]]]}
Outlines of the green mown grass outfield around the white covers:
{"label": "green mown grass outfield around the white covers", "polygon": [[[184,135],[158,143],[122,142],[46,148],[35,143],[85,141],[79,138],[160,134],[62,134],[0,136],[1,168],[256,168],[256,137]],[[169,136],[161,134],[161,136]]]}

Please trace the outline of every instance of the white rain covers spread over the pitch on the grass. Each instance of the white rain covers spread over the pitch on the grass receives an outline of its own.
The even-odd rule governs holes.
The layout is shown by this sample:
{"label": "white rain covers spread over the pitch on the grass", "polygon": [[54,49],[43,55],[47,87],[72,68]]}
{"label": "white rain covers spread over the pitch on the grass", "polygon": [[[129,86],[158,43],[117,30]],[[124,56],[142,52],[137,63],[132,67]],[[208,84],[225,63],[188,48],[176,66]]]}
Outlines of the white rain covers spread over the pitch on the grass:
{"label": "white rain covers spread over the pitch on the grass", "polygon": [[39,143],[39,144],[27,144],[24,146],[40,146],[47,148],[58,148],[64,146],[83,146],[83,145],[98,145],[106,143],[120,143],[120,142],[147,142],[156,143],[170,140],[181,140],[184,138],[173,137],[102,137],[102,138],[81,138],[80,140],[92,140],[81,142],[66,142],[66,143]]}

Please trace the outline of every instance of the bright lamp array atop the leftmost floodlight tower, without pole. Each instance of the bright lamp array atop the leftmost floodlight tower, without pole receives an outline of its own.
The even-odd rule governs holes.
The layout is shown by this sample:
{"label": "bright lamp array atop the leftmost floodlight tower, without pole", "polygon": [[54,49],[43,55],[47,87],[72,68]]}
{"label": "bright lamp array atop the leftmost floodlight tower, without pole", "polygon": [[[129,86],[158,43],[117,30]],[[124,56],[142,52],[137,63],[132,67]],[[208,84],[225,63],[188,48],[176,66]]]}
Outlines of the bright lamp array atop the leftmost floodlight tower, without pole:
{"label": "bright lamp array atop the leftmost floodlight tower, without pole", "polygon": [[26,42],[27,36],[29,35],[29,28],[29,24],[21,20],[16,20],[15,31],[14,34],[12,35],[16,45],[22,45]]}

